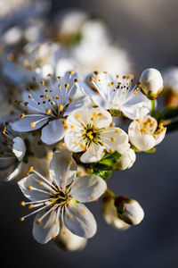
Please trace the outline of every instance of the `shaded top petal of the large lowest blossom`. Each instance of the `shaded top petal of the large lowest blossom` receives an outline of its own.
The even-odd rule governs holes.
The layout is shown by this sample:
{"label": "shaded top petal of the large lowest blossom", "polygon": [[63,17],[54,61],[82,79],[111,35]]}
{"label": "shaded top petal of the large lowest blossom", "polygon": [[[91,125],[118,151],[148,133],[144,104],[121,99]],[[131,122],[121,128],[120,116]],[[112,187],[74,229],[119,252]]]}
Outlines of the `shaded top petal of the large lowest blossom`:
{"label": "shaded top petal of the large lowest blossom", "polygon": [[75,178],[77,163],[72,158],[72,152],[68,149],[61,149],[53,154],[50,163],[50,178],[59,187],[65,188]]}

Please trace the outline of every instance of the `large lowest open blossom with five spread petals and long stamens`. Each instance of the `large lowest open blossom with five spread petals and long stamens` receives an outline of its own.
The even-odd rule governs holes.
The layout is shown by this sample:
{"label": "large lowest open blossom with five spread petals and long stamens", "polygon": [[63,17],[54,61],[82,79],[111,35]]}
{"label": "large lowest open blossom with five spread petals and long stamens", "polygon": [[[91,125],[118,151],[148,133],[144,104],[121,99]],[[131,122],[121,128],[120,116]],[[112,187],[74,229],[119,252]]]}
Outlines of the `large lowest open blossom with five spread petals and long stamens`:
{"label": "large lowest open blossom with five spread petals and long stamens", "polygon": [[[77,163],[72,153],[61,149],[53,154],[50,163],[50,180],[31,168],[28,177],[18,182],[23,194],[31,200],[21,202],[29,208],[38,207],[33,236],[39,243],[46,243],[60,232],[61,222],[75,235],[92,238],[96,232],[93,214],[81,203],[91,202],[101,197],[107,185],[97,176],[76,177]],[[22,218],[23,221],[28,214]]]}

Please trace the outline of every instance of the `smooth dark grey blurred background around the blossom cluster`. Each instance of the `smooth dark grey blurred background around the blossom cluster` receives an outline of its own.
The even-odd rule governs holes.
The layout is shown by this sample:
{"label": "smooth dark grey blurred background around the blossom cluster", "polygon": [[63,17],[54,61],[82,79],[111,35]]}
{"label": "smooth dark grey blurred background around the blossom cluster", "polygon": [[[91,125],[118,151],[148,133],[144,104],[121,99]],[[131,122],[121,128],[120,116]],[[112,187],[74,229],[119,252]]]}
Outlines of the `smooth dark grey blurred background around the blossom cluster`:
{"label": "smooth dark grey blurred background around the blossom cluster", "polygon": [[[176,0],[53,0],[49,21],[64,8],[82,9],[105,21],[113,42],[132,58],[133,73],[178,63]],[[49,21],[46,34],[53,28]],[[123,232],[114,230],[100,215],[100,202],[89,205],[98,231],[81,252],[64,252],[52,242],[37,244],[31,233],[33,219],[18,220],[24,213],[19,205],[23,199],[20,189],[15,182],[1,183],[0,266],[178,267],[177,138],[176,132],[167,134],[155,154],[137,154],[132,169],[115,172],[109,180],[117,194],[141,203],[145,212],[142,224]]]}

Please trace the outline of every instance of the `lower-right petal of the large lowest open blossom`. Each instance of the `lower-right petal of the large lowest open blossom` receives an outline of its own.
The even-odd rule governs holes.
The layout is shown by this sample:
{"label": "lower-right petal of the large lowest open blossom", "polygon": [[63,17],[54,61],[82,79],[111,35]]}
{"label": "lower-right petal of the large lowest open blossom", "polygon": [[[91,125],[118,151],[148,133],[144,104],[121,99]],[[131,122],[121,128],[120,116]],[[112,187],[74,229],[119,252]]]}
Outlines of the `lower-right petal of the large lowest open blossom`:
{"label": "lower-right petal of the large lowest open blossom", "polygon": [[92,238],[97,230],[93,214],[83,204],[69,204],[64,222],[72,233],[86,239]]}

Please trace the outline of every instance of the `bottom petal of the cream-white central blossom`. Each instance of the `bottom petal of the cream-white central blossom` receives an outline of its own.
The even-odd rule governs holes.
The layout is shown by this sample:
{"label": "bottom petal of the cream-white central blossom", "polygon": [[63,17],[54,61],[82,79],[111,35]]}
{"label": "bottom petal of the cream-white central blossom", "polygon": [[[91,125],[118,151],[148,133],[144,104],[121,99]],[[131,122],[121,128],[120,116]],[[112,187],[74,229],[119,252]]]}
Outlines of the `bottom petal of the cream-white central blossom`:
{"label": "bottom petal of the cream-white central blossom", "polygon": [[83,163],[94,163],[101,160],[104,155],[103,147],[99,144],[92,143],[91,146],[80,157],[80,161]]}

